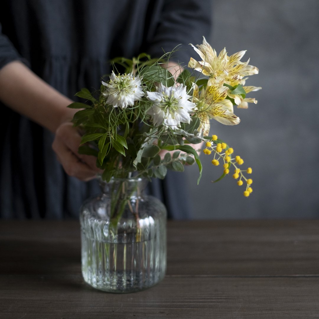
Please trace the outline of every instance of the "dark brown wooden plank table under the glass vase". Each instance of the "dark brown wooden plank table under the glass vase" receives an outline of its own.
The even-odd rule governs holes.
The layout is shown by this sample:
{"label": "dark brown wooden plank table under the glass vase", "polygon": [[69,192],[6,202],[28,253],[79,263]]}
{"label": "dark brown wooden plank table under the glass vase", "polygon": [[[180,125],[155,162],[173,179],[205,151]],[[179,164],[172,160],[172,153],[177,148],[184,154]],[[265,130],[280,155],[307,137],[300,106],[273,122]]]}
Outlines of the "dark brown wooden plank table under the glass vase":
{"label": "dark brown wooden plank table under the glass vase", "polygon": [[81,277],[77,221],[0,221],[0,318],[319,318],[319,221],[169,221],[167,276],[138,293]]}

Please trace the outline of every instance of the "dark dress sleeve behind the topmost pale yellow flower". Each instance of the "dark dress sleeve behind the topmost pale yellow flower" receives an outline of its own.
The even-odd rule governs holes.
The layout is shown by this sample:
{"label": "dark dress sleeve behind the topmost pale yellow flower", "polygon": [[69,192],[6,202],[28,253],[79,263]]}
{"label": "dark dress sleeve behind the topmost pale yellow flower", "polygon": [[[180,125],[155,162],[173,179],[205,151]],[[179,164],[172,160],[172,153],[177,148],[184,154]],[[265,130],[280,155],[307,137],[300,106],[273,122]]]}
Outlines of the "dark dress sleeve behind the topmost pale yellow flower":
{"label": "dark dress sleeve behind the topmost pale yellow flower", "polygon": [[151,20],[146,52],[159,57],[181,44],[172,59],[187,65],[194,55],[189,43],[201,44],[203,36],[211,37],[212,0],[163,0],[161,4]]}

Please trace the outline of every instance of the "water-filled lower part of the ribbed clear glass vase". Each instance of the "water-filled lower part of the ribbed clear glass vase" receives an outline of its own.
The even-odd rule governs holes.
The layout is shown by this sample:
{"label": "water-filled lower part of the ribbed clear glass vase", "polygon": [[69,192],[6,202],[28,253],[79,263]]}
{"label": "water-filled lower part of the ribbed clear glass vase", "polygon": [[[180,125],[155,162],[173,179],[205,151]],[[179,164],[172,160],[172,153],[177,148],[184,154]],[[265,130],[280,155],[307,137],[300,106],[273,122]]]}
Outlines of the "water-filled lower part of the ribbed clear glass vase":
{"label": "water-filled lower part of the ribbed clear glass vase", "polygon": [[134,243],[107,243],[82,230],[82,275],[90,286],[130,293],[156,285],[165,276],[166,245],[161,236]]}

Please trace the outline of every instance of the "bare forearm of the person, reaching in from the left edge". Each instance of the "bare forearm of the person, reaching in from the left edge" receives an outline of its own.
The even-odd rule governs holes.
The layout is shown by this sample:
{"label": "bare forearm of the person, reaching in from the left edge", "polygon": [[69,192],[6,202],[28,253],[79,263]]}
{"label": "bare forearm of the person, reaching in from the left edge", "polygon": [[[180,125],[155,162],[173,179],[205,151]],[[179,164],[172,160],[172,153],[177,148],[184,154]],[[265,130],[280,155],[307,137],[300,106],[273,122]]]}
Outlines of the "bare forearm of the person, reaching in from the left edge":
{"label": "bare forearm of the person, reaching in from the left edge", "polygon": [[72,100],[19,61],[8,63],[0,70],[0,100],[51,132],[70,121],[75,112],[66,108]]}

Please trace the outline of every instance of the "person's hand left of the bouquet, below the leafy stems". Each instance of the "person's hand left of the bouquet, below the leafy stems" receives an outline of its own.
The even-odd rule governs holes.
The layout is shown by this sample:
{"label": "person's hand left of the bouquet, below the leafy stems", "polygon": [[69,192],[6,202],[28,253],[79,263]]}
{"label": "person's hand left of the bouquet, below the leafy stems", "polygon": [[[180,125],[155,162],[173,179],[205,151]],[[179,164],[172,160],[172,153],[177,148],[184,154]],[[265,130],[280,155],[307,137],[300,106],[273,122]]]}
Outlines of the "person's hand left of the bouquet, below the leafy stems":
{"label": "person's hand left of the bouquet, below the leafy stems", "polygon": [[96,157],[78,153],[80,143],[78,130],[71,122],[65,122],[56,130],[52,148],[68,175],[89,181],[102,171],[96,167]]}

